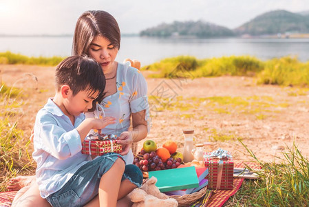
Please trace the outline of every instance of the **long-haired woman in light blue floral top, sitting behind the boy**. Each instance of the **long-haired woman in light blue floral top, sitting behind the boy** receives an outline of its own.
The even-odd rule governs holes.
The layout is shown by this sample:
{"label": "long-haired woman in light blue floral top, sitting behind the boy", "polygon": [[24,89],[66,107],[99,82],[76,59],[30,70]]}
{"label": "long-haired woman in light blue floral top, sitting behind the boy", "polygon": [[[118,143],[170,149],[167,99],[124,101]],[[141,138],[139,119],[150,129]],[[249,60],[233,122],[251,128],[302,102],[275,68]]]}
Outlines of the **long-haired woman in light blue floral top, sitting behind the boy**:
{"label": "long-haired woman in light blue floral top, sitting behind the boy", "polygon": [[[111,124],[102,133],[118,136],[122,155],[125,155],[127,164],[132,164],[134,156],[131,144],[144,139],[149,132],[147,83],[139,70],[115,61],[119,49],[120,30],[111,14],[87,11],[79,17],[74,31],[72,55],[87,54],[100,63],[106,86],[103,100],[98,100],[97,108],[103,116],[116,117],[116,124]],[[86,117],[94,117],[97,113],[97,110],[87,112]],[[129,130],[131,117],[132,130]],[[39,195],[34,176],[12,179],[10,185],[11,190],[23,187],[15,197],[13,206],[50,206]],[[96,200],[92,200],[94,206]]]}

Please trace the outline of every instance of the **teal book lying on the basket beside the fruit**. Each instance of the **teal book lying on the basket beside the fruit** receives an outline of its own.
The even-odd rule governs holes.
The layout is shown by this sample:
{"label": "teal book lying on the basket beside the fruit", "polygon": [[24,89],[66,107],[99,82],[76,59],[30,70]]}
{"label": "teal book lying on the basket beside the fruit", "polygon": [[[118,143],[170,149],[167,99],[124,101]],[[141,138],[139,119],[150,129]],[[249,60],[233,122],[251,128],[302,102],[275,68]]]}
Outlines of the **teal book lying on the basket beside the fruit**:
{"label": "teal book lying on the basket beside the fruit", "polygon": [[198,175],[196,175],[194,166],[150,171],[149,178],[151,177],[156,177],[158,179],[156,186],[159,188],[160,192],[199,187]]}

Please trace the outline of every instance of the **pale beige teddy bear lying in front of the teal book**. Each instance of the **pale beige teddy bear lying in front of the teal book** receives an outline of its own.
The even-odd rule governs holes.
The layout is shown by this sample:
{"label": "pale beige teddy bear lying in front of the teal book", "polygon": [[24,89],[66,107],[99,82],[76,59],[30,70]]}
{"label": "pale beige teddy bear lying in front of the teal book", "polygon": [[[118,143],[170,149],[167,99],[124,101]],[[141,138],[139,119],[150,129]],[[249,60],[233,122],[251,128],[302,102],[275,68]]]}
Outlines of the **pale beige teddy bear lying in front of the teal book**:
{"label": "pale beige teddy bear lying in front of the teal book", "polygon": [[133,207],[178,206],[178,202],[175,199],[160,193],[160,190],[155,185],[156,182],[156,177],[151,177],[140,188],[136,188],[129,193],[129,199],[134,202]]}

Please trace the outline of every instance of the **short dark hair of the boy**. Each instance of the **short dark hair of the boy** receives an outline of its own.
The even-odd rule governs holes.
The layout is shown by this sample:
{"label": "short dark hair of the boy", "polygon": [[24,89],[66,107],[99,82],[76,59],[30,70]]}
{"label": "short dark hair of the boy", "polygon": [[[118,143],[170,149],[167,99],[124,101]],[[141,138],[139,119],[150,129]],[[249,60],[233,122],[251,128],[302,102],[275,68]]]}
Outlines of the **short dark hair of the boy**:
{"label": "short dark hair of the boy", "polygon": [[68,85],[73,95],[81,90],[89,90],[89,96],[91,96],[98,91],[96,100],[103,99],[105,89],[103,70],[94,59],[85,55],[74,55],[61,61],[56,67],[55,83],[56,90],[60,90],[63,85]]}

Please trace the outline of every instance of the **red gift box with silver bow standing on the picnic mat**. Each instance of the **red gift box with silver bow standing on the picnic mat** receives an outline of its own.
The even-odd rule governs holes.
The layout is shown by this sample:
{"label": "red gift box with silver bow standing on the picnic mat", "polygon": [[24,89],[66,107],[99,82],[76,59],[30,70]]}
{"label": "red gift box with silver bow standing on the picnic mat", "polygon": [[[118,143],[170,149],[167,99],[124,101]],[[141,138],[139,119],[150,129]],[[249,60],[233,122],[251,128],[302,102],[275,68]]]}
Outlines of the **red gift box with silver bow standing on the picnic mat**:
{"label": "red gift box with silver bow standing on the picnic mat", "polygon": [[204,166],[209,168],[206,179],[210,189],[233,189],[234,162],[228,151],[218,148],[213,152],[204,152]]}

